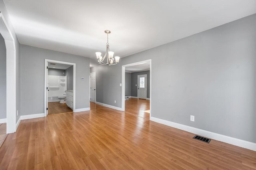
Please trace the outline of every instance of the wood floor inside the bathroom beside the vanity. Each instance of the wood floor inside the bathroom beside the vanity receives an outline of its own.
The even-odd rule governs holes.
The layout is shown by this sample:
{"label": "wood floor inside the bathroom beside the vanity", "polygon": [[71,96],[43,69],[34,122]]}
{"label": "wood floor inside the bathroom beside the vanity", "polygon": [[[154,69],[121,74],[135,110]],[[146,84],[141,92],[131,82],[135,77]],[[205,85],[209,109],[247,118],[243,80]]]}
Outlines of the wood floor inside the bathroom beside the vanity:
{"label": "wood floor inside the bathroom beside the vanity", "polygon": [[68,113],[73,112],[66,103],[57,102],[48,102],[48,115],[59,114],[59,113]]}

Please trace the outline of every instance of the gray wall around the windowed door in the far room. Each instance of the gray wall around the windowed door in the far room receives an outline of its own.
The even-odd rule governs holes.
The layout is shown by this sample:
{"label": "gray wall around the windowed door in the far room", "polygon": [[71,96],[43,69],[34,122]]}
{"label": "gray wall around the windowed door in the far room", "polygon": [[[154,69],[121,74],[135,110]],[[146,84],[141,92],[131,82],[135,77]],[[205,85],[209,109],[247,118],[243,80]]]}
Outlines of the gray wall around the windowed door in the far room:
{"label": "gray wall around the windowed door in the far room", "polygon": [[[150,71],[140,71],[132,73],[131,95],[138,97],[138,75],[147,75],[147,98],[150,98]],[[137,85],[137,86],[136,86]]]}

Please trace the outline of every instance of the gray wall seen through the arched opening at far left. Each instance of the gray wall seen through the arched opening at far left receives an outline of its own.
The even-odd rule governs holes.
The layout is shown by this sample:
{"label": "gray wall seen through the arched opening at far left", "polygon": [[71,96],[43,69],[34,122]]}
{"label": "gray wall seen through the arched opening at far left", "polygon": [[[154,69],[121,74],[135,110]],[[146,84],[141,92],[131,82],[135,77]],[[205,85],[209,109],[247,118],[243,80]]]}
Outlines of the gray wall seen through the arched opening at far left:
{"label": "gray wall seen through the arched opening at far left", "polygon": [[0,119],[6,118],[6,48],[0,34]]}

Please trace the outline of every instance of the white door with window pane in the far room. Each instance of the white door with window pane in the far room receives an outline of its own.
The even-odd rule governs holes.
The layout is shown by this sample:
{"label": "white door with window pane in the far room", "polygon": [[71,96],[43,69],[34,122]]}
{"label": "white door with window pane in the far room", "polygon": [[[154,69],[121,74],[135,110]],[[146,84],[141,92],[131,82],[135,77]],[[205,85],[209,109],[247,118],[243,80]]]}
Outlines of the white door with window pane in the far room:
{"label": "white door with window pane in the far room", "polygon": [[147,98],[147,75],[138,75],[138,99]]}

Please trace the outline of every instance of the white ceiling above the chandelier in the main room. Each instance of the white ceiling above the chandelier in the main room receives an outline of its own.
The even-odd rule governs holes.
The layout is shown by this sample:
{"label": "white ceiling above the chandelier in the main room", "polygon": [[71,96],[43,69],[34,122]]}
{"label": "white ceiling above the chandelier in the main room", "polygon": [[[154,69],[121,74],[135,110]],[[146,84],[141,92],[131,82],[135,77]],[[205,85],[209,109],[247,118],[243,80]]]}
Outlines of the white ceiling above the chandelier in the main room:
{"label": "white ceiling above the chandelier in the main room", "polygon": [[256,13],[256,0],[4,0],[20,43],[120,57]]}

